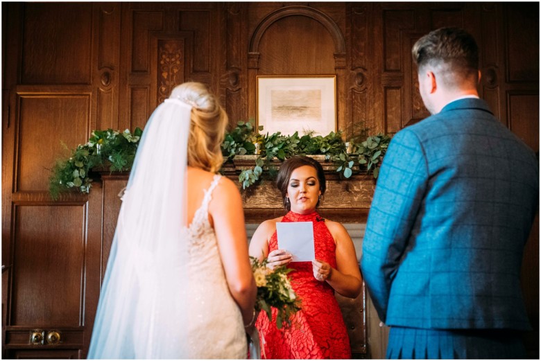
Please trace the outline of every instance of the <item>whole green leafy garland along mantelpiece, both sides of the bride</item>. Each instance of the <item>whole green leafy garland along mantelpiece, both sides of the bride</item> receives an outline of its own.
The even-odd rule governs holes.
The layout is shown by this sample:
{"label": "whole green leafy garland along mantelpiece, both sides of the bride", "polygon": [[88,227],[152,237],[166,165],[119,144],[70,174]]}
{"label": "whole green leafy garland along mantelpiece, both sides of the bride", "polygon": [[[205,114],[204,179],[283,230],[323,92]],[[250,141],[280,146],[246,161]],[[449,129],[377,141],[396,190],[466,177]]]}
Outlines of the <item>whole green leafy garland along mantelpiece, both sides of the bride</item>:
{"label": "whole green leafy garland along mantelpiece, both sides of the bride", "polygon": [[[259,127],[262,131],[263,127]],[[95,168],[109,168],[111,171],[131,169],[135,152],[143,131],[139,128],[133,134],[129,130],[95,130],[88,143],[79,145],[71,152],[69,159],[62,159],[53,166],[49,178],[49,192],[57,199],[62,191],[76,188],[81,193],[89,193],[92,179],[89,172]],[[387,150],[390,137],[384,134],[368,136],[366,130],[352,134],[345,143],[342,132],[331,132],[327,136],[314,136],[313,133],[291,136],[280,132],[262,135],[255,131],[252,123],[237,123],[237,127],[225,134],[222,152],[227,160],[237,155],[255,155],[259,148],[259,157],[255,166],[243,170],[239,182],[243,188],[255,184],[263,174],[264,168],[273,177],[275,169],[272,159],[284,160],[294,155],[325,155],[325,159],[334,161],[336,171],[342,177],[349,178],[355,172],[366,170],[377,178],[379,164]],[[347,146],[347,148],[346,148]],[[355,167],[355,165],[358,167]]]}

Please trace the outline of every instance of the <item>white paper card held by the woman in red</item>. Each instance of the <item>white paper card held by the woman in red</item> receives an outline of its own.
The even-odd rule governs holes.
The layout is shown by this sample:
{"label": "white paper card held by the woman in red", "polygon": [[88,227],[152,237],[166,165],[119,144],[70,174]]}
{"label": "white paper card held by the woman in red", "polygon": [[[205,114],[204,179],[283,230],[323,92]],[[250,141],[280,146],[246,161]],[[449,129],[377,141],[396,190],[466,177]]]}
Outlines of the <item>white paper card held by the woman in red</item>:
{"label": "white paper card held by the woman in red", "polygon": [[276,232],[278,248],[291,253],[292,262],[306,262],[316,258],[312,222],[277,222]]}

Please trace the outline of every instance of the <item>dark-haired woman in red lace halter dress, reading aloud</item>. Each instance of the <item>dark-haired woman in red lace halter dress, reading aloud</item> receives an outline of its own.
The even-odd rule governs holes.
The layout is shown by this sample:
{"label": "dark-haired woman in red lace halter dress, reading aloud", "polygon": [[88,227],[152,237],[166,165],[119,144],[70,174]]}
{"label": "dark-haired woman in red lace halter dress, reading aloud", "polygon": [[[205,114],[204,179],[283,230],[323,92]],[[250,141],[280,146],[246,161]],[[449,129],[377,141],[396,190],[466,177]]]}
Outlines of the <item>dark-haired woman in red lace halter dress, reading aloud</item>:
{"label": "dark-haired woman in red lace halter dress, reading aloud", "polygon": [[[317,212],[325,193],[325,173],[318,161],[291,157],[280,166],[277,187],[289,211],[262,222],[250,241],[250,256],[267,258],[268,267],[292,268],[291,285],[302,309],[291,318],[291,327],[276,327],[261,312],[255,326],[261,335],[261,355],[267,359],[351,358],[349,337],[334,292],[355,298],[361,292],[361,272],[353,242],[342,224]],[[291,262],[292,255],[277,246],[277,222],[312,222],[316,259]]]}

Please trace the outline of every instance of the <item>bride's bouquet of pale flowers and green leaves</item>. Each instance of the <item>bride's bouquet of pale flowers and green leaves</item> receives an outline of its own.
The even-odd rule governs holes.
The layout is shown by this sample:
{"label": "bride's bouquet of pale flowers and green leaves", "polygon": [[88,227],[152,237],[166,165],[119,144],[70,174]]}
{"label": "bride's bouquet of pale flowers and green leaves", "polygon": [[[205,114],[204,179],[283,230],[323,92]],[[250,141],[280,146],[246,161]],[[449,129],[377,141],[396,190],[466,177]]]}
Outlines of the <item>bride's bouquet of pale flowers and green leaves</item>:
{"label": "bride's bouquet of pale flowers and green leaves", "polygon": [[255,300],[255,310],[264,310],[268,319],[273,320],[271,307],[278,310],[276,317],[277,328],[282,326],[291,326],[291,315],[300,310],[300,300],[291,288],[291,283],[287,274],[291,268],[276,267],[271,270],[267,267],[267,260],[259,262],[255,257],[250,256],[252,262],[252,271],[254,272],[255,283],[257,285],[257,297]]}

